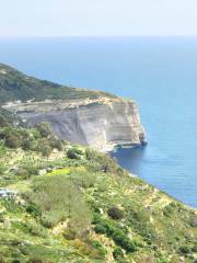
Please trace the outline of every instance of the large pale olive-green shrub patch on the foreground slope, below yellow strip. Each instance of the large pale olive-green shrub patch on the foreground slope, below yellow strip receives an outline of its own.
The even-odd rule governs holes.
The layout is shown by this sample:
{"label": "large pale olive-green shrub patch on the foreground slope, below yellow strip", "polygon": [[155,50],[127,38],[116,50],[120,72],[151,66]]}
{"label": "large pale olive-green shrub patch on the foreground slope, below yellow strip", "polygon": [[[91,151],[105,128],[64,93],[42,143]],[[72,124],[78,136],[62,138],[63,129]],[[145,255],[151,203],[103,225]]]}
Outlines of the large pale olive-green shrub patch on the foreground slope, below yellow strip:
{"label": "large pale olive-green shrub patch on the foreground slope, below yellow strip", "polygon": [[90,227],[91,211],[79,187],[70,178],[60,174],[46,176],[28,194],[28,202],[35,204],[42,214],[42,224],[54,227],[69,218],[69,227],[83,238]]}

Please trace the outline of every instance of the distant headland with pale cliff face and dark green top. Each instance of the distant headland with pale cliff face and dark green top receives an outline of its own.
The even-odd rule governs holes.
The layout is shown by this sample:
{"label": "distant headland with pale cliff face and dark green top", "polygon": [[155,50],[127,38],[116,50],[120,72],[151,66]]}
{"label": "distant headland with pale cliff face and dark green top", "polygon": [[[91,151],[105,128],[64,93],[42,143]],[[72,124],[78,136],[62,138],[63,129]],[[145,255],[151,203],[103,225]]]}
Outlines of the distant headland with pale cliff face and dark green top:
{"label": "distant headland with pale cliff face and dark green top", "polygon": [[28,77],[0,64],[0,105],[26,123],[48,122],[73,144],[109,151],[144,144],[135,102],[102,91],[70,88]]}

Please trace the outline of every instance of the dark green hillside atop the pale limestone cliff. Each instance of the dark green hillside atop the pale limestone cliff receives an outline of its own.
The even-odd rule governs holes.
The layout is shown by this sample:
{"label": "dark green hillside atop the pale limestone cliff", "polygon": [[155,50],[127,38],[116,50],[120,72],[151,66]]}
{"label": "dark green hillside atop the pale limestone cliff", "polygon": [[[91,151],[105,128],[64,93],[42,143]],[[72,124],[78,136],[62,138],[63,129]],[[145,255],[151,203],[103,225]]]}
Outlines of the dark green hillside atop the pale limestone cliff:
{"label": "dark green hillside atop the pale limestone cliff", "polygon": [[15,100],[26,101],[35,99],[35,101],[43,101],[45,99],[72,100],[113,96],[101,91],[74,89],[46,80],[38,80],[25,76],[16,69],[3,64],[0,64],[0,104]]}

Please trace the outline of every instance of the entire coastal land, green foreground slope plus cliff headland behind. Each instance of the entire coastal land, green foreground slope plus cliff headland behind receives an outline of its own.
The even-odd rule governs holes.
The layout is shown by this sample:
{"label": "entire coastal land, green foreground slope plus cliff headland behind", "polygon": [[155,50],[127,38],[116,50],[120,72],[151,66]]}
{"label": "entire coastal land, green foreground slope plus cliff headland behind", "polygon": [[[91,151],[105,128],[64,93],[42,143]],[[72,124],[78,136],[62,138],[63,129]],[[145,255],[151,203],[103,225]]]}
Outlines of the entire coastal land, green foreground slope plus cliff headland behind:
{"label": "entire coastal land, green foreground slope plus cliff headland behind", "polygon": [[135,102],[4,65],[0,94],[0,263],[197,262],[197,211],[89,148],[144,144]]}

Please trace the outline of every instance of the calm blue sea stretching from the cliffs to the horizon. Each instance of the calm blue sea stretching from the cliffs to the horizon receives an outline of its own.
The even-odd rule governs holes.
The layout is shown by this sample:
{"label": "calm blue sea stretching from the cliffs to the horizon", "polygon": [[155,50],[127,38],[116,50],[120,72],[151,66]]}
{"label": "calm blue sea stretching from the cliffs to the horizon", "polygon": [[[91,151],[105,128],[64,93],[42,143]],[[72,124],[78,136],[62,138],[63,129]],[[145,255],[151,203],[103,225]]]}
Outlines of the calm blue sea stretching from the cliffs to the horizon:
{"label": "calm blue sea stretching from the cliffs to the horizon", "polygon": [[135,99],[149,145],[114,157],[197,207],[197,38],[0,39],[0,61],[42,79]]}

